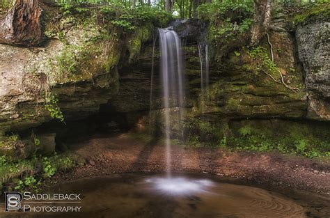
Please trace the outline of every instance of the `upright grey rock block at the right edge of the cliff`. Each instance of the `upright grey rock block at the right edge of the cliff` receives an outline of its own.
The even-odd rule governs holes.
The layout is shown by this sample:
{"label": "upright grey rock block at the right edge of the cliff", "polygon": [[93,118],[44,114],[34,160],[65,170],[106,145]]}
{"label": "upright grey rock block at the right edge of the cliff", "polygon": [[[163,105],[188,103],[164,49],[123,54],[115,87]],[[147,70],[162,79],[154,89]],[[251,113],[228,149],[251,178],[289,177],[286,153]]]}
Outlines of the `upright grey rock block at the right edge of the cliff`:
{"label": "upright grey rock block at the right edge of the cliff", "polygon": [[306,72],[308,118],[330,120],[330,22],[312,22],[296,31],[299,59]]}

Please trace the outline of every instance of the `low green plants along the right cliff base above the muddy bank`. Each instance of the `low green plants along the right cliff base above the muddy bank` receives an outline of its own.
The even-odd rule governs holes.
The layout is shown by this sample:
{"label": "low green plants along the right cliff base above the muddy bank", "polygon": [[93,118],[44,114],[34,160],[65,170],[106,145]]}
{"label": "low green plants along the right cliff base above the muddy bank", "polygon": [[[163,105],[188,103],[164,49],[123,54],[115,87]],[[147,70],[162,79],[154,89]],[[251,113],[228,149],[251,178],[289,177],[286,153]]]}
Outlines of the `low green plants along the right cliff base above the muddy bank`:
{"label": "low green plants along the right cliff base above the muddy bank", "polygon": [[[229,148],[234,150],[272,152],[287,155],[301,155],[309,158],[330,157],[330,137],[315,136],[306,126],[292,125],[288,133],[274,132],[273,127],[254,127],[244,125],[230,129],[229,134],[210,122],[200,118],[189,118],[184,121],[184,135],[187,136],[184,143],[187,146],[201,147],[214,146],[217,148]],[[317,131],[317,134],[320,132]]]}

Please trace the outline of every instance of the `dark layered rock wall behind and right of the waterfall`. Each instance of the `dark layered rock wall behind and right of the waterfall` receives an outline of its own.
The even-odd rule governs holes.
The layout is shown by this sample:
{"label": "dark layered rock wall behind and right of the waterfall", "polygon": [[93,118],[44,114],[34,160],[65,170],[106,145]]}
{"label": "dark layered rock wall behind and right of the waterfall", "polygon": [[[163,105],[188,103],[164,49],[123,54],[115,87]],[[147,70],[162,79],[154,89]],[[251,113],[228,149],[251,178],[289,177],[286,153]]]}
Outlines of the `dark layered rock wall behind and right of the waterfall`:
{"label": "dark layered rock wall behind and right of the waterfall", "polygon": [[[239,127],[234,128],[230,123],[235,122],[240,127],[244,127],[244,125],[247,125],[244,120],[251,120],[251,125],[256,127],[266,127],[267,125],[267,128],[273,128],[274,135],[276,132],[285,134],[286,125],[300,126],[301,130],[304,129],[304,132],[309,132],[313,137],[320,139],[322,137],[313,131],[314,127],[320,127],[324,130],[323,132],[329,132],[327,123],[308,121],[308,119],[315,119],[308,109],[313,104],[311,96],[315,95],[315,92],[304,86],[306,75],[299,62],[299,51],[292,33],[271,32],[269,35],[274,47],[274,62],[281,70],[285,84],[297,88],[296,92],[286,88],[279,82],[281,81],[279,73],[272,75],[278,81],[275,82],[262,71],[258,71],[256,60],[251,59],[246,49],[235,49],[235,52],[238,52],[239,55],[232,50],[228,54],[223,54],[224,61],[221,63],[211,61],[210,87],[207,88],[205,96],[202,96],[198,44],[203,43],[203,38],[191,40],[194,37],[189,36],[189,31],[182,27],[184,23],[179,24],[179,26],[180,28],[176,27],[176,29],[179,36],[182,36],[183,42],[187,87],[185,105],[189,122],[191,119],[197,119],[214,125],[214,130],[217,130],[217,137],[235,134]],[[194,29],[191,28],[191,23],[188,26],[188,29]],[[180,29],[183,33],[180,32]],[[195,32],[192,31],[191,34],[194,35]],[[186,38],[189,40],[186,40]],[[266,40],[262,42],[262,46],[268,48]],[[144,45],[143,52],[141,52],[136,63],[119,69],[120,91],[116,97],[108,104],[102,105],[101,108],[104,114],[116,116],[116,114],[121,113],[121,116],[125,117],[122,122],[137,123],[136,126],[146,125],[147,128],[149,126],[152,131],[159,134],[159,132],[162,132],[164,120],[162,118],[163,100],[161,98],[162,87],[159,81],[159,50],[157,49],[157,43],[155,51],[152,106],[150,107],[149,99],[152,60],[152,42],[150,42]],[[322,102],[317,100],[314,104],[320,107]],[[177,105],[172,104],[172,107],[171,117],[175,126],[178,124],[175,121],[177,118],[175,107]],[[151,114],[149,114],[150,108],[152,109]],[[317,111],[320,112],[321,110],[317,109]],[[329,115],[327,111],[325,113]],[[311,125],[308,125],[308,122],[311,122]],[[272,125],[272,123],[278,124]],[[172,130],[173,137],[175,137],[175,127]],[[201,132],[203,130],[199,131],[199,133]],[[299,134],[299,136],[303,135],[307,136],[307,134]],[[323,134],[323,136],[325,139],[326,134]],[[213,140],[213,138],[206,137],[205,140]]]}

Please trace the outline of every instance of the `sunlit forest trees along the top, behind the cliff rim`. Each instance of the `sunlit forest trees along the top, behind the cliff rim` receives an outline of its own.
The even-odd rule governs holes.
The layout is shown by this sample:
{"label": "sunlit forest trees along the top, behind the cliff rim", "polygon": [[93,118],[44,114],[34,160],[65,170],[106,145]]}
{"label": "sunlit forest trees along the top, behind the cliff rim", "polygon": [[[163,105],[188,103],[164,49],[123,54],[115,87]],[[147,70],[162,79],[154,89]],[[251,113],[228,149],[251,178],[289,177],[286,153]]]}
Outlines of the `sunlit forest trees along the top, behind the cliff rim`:
{"label": "sunlit forest trees along the top, behind the cliff rim", "polygon": [[[198,11],[208,12],[217,8],[228,7],[249,7],[253,8],[253,3],[258,0],[42,0],[55,2],[59,6],[70,8],[81,4],[97,4],[120,6],[122,8],[146,8],[166,11],[173,17],[180,19],[198,18]],[[272,4],[283,4],[284,6],[304,6],[313,3],[327,3],[327,0],[275,0],[269,1]],[[10,8],[15,3],[14,0],[0,0],[1,8]]]}

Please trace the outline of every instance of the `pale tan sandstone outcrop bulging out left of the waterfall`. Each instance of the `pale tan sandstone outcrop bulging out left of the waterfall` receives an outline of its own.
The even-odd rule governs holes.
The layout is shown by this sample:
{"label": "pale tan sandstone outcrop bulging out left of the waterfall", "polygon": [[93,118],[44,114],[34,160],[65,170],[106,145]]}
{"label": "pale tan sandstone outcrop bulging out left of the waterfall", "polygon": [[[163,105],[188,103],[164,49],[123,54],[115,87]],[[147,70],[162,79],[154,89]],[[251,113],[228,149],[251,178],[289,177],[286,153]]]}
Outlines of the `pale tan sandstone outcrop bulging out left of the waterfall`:
{"label": "pale tan sandstone outcrop bulging out left of the waterfall", "polygon": [[0,45],[0,135],[51,120],[49,92],[65,118],[84,118],[118,91],[121,50],[114,56],[105,46],[109,40],[95,40],[104,33],[94,20],[62,17],[45,32],[45,47]]}

